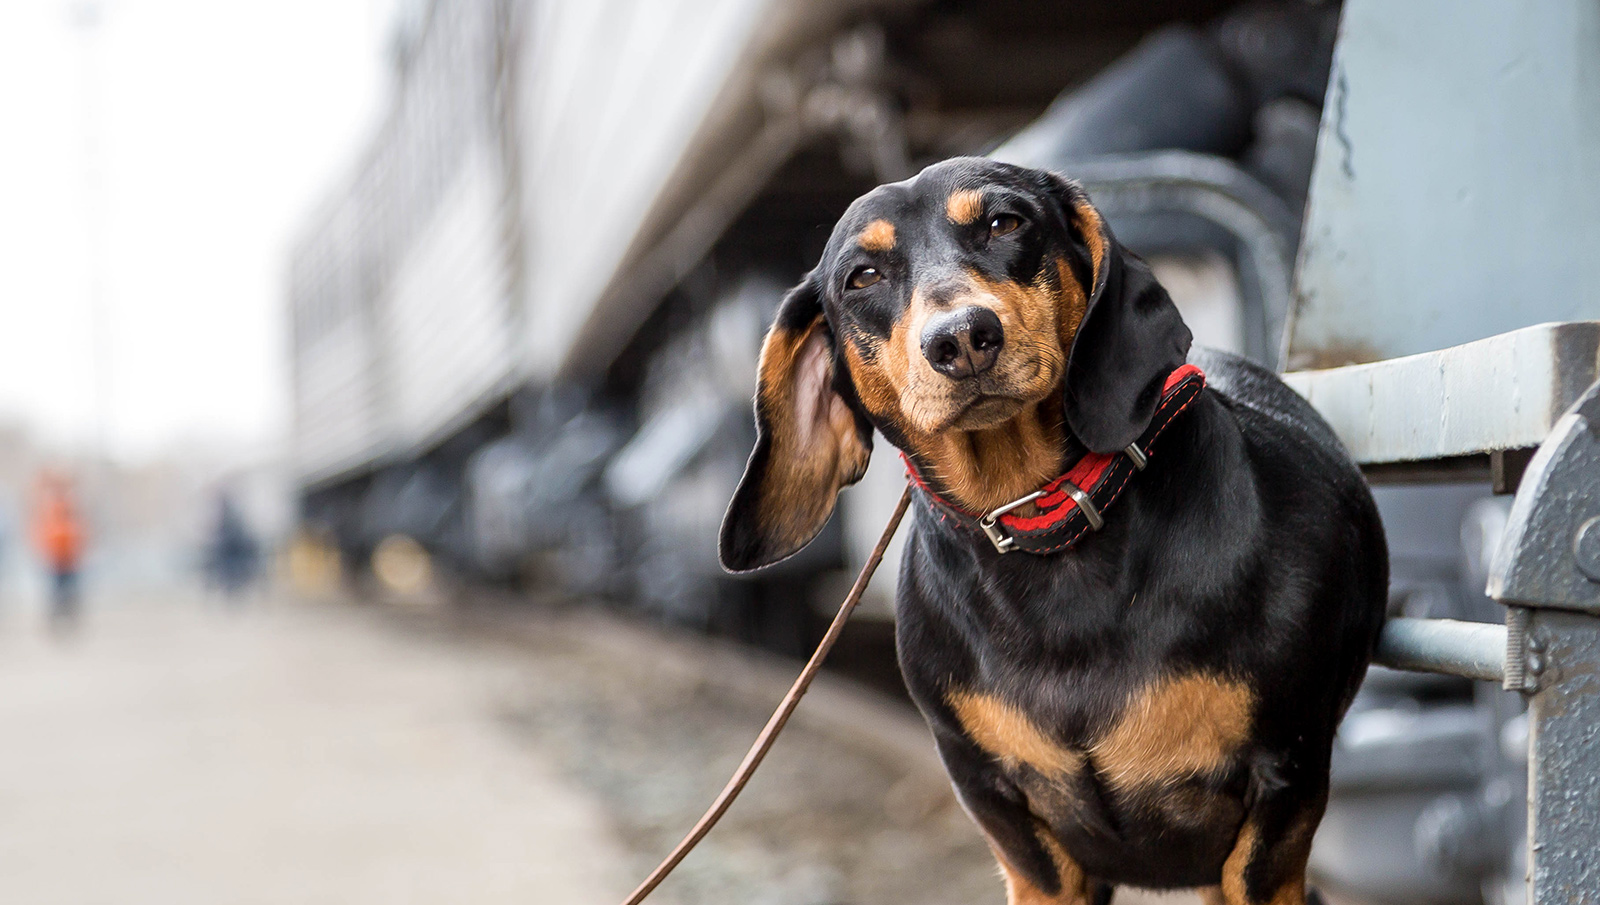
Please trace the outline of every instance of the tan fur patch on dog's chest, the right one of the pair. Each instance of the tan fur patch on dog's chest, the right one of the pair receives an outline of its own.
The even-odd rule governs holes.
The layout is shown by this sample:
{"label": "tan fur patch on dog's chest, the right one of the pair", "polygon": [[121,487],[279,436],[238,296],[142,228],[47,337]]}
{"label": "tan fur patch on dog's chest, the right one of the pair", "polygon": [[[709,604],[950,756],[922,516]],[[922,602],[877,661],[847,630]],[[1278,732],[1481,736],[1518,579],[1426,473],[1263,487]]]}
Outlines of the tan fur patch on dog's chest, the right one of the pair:
{"label": "tan fur patch on dog's chest, the right one of the pair", "polygon": [[1155,681],[1090,747],[1112,788],[1176,782],[1222,767],[1250,737],[1254,696],[1206,675]]}

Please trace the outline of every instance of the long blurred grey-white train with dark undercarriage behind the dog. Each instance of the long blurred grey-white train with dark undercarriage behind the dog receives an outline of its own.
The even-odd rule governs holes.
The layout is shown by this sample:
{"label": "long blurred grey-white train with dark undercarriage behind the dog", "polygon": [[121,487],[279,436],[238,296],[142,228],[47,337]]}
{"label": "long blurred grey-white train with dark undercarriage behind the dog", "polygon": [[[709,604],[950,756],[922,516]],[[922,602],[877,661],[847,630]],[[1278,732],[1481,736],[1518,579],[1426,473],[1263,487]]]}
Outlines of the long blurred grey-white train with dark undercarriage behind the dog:
{"label": "long blurred grey-white train with dark undercarriage behind the dog", "polygon": [[[715,537],[762,333],[850,200],[958,153],[1061,169],[1198,342],[1344,363],[1285,339],[1338,29],[1306,0],[402,5],[387,118],[291,253],[302,526],[357,582],[403,539],[442,580],[805,652],[899,494],[893,457],[776,569],[722,574]],[[1494,617],[1459,540],[1501,516],[1485,496],[1381,494],[1397,612]],[[1363,724],[1400,713],[1421,742],[1342,752],[1322,873],[1374,902],[1496,899],[1509,843],[1438,803],[1499,782],[1472,752],[1515,715],[1466,681],[1371,686]]]}

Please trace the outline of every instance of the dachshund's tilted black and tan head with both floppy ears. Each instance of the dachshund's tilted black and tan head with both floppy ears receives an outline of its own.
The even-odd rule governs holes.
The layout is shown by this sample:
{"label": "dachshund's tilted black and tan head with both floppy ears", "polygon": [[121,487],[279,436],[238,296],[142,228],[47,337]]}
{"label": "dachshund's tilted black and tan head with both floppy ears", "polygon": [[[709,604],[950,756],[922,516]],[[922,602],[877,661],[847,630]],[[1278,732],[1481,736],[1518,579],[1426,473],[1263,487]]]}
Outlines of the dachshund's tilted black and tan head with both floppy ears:
{"label": "dachshund's tilted black and tan head with both floppy ears", "polygon": [[1053,173],[957,158],[858,198],[762,345],[722,563],[776,563],[861,480],[872,429],[974,512],[1144,432],[1189,329]]}

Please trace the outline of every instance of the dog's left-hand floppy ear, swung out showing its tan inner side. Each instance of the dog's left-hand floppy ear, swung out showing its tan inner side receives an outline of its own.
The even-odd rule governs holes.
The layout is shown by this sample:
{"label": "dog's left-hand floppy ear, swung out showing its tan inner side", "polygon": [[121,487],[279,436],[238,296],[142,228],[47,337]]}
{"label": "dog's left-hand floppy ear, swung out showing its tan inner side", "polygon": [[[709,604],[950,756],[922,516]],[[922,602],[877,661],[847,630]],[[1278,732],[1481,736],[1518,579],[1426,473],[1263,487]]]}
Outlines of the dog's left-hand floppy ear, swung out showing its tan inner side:
{"label": "dog's left-hand floppy ear, swung out showing its tan inner side", "polygon": [[[730,572],[789,558],[827,524],[838,491],[861,480],[872,427],[840,393],[834,336],[813,272],[784,296],[762,344],[755,451],[722,521]],[[846,392],[850,392],[846,389]]]}

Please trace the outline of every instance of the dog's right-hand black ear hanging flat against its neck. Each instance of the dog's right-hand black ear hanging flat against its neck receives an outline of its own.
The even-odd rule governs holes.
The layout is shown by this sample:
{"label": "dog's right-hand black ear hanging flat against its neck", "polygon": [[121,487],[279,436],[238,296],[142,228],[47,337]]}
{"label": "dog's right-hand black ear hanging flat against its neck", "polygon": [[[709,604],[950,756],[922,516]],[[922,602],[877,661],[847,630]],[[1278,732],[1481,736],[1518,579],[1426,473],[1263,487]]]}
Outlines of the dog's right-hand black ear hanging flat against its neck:
{"label": "dog's right-hand black ear hanging flat against its neck", "polygon": [[1053,176],[1067,224],[1090,257],[1090,301],[1072,350],[1062,409],[1093,452],[1118,452],[1150,425],[1166,376],[1182,366],[1192,336],[1150,267],[1117,243],[1075,182]]}

